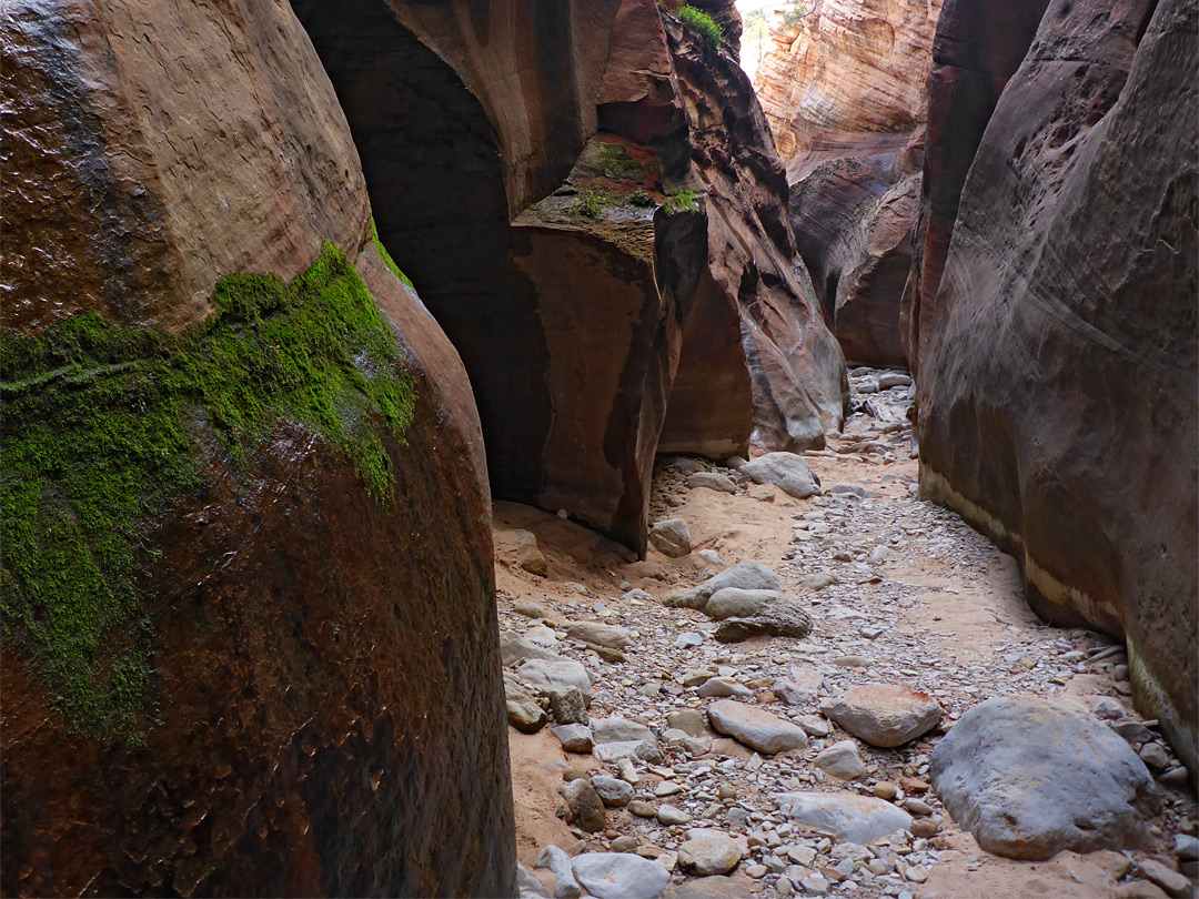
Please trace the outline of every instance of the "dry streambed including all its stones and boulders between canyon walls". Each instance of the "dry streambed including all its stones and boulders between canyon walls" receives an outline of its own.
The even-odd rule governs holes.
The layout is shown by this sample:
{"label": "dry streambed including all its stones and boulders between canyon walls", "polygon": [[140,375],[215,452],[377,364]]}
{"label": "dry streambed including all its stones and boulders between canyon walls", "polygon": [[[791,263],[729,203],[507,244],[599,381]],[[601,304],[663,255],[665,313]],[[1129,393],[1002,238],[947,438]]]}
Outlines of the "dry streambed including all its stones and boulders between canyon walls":
{"label": "dry streambed including all its stones and boulders between canyon walls", "polygon": [[[683,526],[646,561],[498,506],[525,892],[1192,894],[1195,804],[1122,648],[1042,626],[1014,562],[916,499],[903,375],[852,382],[803,457],[819,494],[664,460],[651,520]],[[1065,773],[1037,749],[1062,734]],[[1056,792],[1013,807],[1022,777]]]}

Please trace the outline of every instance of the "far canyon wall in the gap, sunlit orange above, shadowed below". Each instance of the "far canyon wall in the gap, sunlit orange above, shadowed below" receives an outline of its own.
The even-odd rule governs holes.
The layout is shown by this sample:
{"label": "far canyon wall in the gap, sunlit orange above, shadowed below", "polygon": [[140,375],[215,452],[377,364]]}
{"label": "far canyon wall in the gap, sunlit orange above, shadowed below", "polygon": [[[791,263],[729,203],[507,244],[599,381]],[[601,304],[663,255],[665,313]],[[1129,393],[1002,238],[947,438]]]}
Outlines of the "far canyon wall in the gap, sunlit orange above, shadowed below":
{"label": "far canyon wall in the gap, sunlit orange above, shadowed below", "polygon": [[904,364],[899,306],[923,165],[940,0],[793,12],[757,74],[793,186],[791,227],[850,362]]}

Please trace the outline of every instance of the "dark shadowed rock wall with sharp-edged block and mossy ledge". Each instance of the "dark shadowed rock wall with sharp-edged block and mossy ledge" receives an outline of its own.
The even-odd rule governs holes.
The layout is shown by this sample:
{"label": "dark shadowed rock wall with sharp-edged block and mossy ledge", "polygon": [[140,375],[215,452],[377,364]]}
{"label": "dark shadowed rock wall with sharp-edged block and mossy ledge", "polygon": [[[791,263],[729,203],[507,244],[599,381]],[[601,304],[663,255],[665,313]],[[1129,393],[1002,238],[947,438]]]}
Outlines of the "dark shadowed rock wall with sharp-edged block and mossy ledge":
{"label": "dark shadowed rock wall with sharp-edged block and mossy ledge", "polygon": [[[680,325],[656,284],[651,210],[608,209],[661,195],[655,153],[591,138],[597,97],[652,90],[667,116],[670,98],[652,72],[605,80],[619,1],[553,16],[522,0],[293,6],[345,108],[380,237],[463,356],[495,495],[565,508],[644,554]],[[604,171],[614,153],[628,167]]]}

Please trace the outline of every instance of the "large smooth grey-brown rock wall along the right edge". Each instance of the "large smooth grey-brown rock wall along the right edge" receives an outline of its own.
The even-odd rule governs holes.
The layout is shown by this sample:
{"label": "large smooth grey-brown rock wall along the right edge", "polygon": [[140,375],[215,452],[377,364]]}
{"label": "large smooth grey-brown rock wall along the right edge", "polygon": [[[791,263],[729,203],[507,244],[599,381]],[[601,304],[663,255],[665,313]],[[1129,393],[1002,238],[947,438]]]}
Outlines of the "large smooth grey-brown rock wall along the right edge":
{"label": "large smooth grey-brown rock wall along the right edge", "polygon": [[1194,776],[1195,11],[1096,10],[1049,7],[975,155],[920,313],[921,490],[1017,555],[1042,615],[1127,638]]}

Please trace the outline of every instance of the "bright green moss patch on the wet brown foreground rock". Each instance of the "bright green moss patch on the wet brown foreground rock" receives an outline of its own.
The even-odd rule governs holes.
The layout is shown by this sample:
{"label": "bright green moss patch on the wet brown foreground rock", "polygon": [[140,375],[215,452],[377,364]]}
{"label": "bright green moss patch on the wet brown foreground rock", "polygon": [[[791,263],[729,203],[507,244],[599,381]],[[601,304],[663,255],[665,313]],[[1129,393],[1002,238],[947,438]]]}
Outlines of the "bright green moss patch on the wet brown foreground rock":
{"label": "bright green moss patch on the wet brown foreground rock", "polygon": [[95,313],[0,333],[0,619],[66,724],[135,738],[153,629],[139,602],[158,515],[204,489],[197,429],[235,464],[281,420],[344,452],[369,494],[394,477],[386,434],[414,392],[390,325],[336,247],[290,284],[239,274],[182,334]]}

